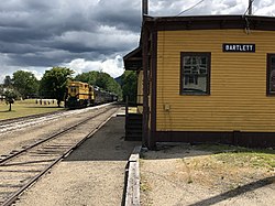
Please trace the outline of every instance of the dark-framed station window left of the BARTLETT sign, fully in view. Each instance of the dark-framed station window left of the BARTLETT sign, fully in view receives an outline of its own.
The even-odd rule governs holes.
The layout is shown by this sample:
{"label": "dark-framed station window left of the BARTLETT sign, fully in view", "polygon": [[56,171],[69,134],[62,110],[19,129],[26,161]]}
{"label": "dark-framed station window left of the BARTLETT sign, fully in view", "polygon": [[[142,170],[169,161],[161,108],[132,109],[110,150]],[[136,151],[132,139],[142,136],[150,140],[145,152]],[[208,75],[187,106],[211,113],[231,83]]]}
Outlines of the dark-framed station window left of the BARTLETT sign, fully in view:
{"label": "dark-framed station window left of the BARTLETT sign, fully in view", "polygon": [[211,53],[182,52],[180,95],[210,95]]}

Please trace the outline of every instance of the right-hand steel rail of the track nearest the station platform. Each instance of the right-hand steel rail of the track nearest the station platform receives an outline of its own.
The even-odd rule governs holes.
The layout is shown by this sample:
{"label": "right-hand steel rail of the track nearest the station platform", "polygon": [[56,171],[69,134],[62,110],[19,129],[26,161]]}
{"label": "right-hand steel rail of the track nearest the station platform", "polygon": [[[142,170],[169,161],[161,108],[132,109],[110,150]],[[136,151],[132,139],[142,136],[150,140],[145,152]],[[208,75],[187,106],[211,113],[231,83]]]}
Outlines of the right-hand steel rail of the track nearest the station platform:
{"label": "right-hand steel rail of the track nearest the station platform", "polygon": [[[34,176],[31,181],[29,181],[22,188],[20,188],[18,192],[15,192],[13,195],[8,197],[7,200],[2,203],[1,206],[10,206],[12,205],[19,195],[21,195],[26,188],[29,188],[32,184],[34,184],[40,177],[42,177],[48,170],[51,170],[55,164],[57,164],[63,158],[66,158],[69,153],[72,153],[76,148],[78,148],[82,142],[85,142],[88,138],[91,138],[100,128],[102,128],[116,113],[118,109],[112,112],[103,122],[99,123],[95,129],[92,129],[87,135],[85,135],[80,141],[75,143],[73,147],[70,147],[67,151],[65,151],[59,158],[57,158],[52,164],[50,164],[46,169],[44,169],[40,174]],[[102,112],[98,113],[96,117],[99,115],[102,115]]]}

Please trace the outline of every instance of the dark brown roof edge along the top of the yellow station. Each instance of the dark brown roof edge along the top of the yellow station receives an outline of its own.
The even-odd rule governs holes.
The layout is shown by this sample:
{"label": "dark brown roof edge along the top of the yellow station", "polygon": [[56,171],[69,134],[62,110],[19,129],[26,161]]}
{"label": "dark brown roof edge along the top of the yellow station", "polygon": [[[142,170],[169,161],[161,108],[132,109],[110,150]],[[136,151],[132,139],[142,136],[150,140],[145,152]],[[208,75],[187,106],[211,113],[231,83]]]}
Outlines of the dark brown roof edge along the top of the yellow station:
{"label": "dark brown roof edge along the top of the yellow station", "polygon": [[213,29],[275,31],[275,18],[257,15],[145,17],[144,25],[157,31]]}

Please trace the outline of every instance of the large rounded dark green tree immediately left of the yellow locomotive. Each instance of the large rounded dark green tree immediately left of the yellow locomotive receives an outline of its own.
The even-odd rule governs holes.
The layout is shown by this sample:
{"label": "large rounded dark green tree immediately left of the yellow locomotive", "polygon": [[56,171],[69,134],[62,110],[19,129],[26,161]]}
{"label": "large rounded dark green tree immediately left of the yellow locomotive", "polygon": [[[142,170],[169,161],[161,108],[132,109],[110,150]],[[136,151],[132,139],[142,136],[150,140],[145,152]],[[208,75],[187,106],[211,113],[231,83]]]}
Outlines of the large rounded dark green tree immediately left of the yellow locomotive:
{"label": "large rounded dark green tree immediately left of the yellow locomotive", "polygon": [[64,99],[68,79],[72,78],[74,71],[66,67],[53,67],[46,71],[40,84],[40,94],[45,98],[57,100],[58,107]]}

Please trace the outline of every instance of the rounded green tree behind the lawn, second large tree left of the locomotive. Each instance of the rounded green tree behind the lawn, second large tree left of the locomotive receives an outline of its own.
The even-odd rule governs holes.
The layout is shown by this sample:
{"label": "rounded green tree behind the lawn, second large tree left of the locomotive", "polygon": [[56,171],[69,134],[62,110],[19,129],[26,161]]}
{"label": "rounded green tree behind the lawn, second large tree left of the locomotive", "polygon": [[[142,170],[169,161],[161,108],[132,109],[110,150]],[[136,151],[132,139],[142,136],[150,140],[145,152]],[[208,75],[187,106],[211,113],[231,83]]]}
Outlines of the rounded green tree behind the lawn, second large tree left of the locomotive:
{"label": "rounded green tree behind the lawn, second large tree left of the locomotive", "polygon": [[38,80],[31,72],[18,71],[13,73],[12,83],[23,99],[36,96],[38,91]]}

